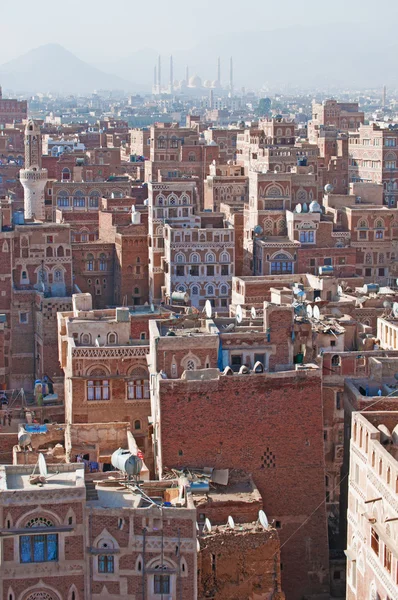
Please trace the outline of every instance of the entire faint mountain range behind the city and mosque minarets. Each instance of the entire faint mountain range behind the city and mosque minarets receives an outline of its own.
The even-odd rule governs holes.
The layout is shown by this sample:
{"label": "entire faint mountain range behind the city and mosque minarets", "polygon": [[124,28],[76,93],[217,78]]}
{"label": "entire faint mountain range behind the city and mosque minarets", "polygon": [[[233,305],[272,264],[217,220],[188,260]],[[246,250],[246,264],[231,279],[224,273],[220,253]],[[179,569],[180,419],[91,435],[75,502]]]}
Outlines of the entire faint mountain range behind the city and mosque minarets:
{"label": "entire faint mountain range behind the city and mosque minarets", "polygon": [[[174,78],[190,75],[229,80],[234,60],[235,88],[273,91],[289,88],[359,89],[397,86],[398,44],[393,24],[383,25],[383,43],[360,24],[288,27],[272,31],[222,33],[189,50],[173,53]],[[150,91],[158,52],[152,48],[95,65],[79,59],[59,44],[35,48],[0,65],[0,84],[16,92],[88,93],[95,89]],[[162,80],[169,80],[169,53],[162,51]]]}

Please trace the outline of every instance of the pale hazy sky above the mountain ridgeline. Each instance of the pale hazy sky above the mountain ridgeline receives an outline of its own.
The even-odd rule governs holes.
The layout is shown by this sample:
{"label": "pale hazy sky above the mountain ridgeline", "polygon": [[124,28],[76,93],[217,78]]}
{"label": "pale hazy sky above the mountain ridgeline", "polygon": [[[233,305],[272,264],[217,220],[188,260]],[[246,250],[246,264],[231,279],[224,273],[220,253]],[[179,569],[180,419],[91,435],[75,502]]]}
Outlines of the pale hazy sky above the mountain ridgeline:
{"label": "pale hazy sky above the mountain ridgeline", "polygon": [[50,42],[83,60],[111,62],[143,48],[176,51],[241,30],[296,26],[299,40],[302,25],[371,23],[380,6],[389,22],[398,17],[397,0],[2,0],[0,64]]}

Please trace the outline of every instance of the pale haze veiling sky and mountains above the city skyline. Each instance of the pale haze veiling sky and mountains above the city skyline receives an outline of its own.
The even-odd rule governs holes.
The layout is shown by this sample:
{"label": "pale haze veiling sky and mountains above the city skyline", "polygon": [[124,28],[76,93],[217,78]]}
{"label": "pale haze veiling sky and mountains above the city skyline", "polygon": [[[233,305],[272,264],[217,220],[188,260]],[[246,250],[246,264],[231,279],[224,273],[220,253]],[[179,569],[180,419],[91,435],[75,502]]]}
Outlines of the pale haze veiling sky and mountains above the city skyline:
{"label": "pale haze veiling sky and mountains above the city skyline", "polygon": [[[2,8],[3,22],[18,23],[18,36],[3,27],[0,77],[17,91],[84,91],[90,78],[106,88],[148,91],[160,53],[164,60],[173,54],[177,79],[187,66],[214,79],[218,56],[226,79],[233,56],[236,84],[253,89],[395,86],[398,5],[383,2],[378,25],[374,13],[371,0],[255,0],[247,10],[236,0],[205,0],[196,10],[182,0],[155,0],[150,8],[120,0],[113,11],[103,0],[71,0],[67,7],[38,0],[34,11],[23,0]],[[63,76],[50,76],[57,68]]]}

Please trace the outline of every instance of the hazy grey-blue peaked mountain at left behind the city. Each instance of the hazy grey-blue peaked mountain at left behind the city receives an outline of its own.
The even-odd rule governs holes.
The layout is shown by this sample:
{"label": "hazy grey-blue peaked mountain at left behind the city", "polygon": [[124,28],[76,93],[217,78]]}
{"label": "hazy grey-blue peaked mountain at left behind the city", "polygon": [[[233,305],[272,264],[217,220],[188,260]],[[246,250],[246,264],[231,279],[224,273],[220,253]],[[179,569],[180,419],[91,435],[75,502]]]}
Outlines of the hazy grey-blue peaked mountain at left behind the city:
{"label": "hazy grey-blue peaked mountain at left behind the city", "polygon": [[130,91],[125,79],[85,63],[59,44],[47,44],[0,65],[0,84],[17,92],[88,93],[95,89]]}

